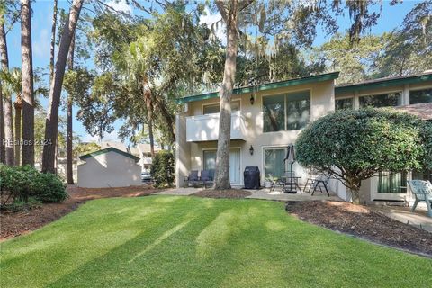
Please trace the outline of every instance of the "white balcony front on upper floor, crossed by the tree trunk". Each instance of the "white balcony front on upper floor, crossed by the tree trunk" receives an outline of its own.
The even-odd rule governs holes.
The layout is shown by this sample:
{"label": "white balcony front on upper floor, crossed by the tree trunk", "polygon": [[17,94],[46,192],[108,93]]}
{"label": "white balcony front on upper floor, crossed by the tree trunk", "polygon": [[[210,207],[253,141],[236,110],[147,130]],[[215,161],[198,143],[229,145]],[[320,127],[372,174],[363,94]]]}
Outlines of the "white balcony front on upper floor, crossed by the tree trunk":
{"label": "white balcony front on upper floor, crossed by the tree trunk", "polygon": [[[187,142],[214,141],[219,137],[219,113],[186,117]],[[231,112],[231,139],[246,141],[245,117]]]}

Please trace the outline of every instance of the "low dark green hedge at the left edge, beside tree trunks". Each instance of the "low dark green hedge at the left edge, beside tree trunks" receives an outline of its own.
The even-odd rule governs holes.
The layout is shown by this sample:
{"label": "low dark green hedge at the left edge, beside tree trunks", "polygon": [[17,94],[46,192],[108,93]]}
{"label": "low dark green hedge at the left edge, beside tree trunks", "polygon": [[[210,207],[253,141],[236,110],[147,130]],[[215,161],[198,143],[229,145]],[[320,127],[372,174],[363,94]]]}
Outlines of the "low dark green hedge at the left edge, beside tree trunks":
{"label": "low dark green hedge at the left edge, beside tree trunks", "polygon": [[21,202],[28,202],[30,198],[61,202],[67,198],[65,185],[57,175],[40,173],[32,166],[0,165],[0,187]]}

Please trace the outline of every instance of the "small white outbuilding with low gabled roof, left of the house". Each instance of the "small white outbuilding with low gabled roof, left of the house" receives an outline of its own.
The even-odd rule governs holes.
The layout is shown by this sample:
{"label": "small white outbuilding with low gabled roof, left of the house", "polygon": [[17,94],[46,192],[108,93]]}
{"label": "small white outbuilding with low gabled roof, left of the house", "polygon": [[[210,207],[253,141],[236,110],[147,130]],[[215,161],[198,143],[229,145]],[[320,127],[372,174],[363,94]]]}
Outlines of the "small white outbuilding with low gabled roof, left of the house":
{"label": "small white outbuilding with low gabled roof, left of the house", "polygon": [[79,157],[78,186],[84,188],[126,187],[141,183],[141,166],[135,157],[118,148],[104,148]]}

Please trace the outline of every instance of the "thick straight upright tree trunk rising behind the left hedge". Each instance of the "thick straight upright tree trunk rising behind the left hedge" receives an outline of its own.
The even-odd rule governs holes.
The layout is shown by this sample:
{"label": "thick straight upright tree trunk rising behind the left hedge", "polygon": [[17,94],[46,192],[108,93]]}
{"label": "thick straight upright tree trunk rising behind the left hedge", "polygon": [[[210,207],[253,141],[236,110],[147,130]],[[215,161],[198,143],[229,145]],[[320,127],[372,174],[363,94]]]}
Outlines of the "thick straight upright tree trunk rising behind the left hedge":
{"label": "thick straight upright tree trunk rising behind the left hedge", "polygon": [[23,165],[34,166],[34,94],[30,0],[21,0],[21,49],[23,73]]}

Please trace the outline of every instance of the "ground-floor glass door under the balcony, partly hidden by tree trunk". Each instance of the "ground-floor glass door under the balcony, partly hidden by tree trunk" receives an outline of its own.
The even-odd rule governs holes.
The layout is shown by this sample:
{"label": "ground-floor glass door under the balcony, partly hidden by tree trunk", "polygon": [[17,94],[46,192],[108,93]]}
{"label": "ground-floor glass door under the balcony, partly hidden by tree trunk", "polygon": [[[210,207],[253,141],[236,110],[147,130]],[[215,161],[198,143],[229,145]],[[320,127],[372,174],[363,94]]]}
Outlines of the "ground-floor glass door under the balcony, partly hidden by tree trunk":
{"label": "ground-floor glass door under the balcony, partly hidden by tree trunk", "polygon": [[[216,167],[216,150],[202,151],[204,170],[215,169]],[[240,177],[240,149],[229,149],[229,180],[231,184],[241,184]]]}

